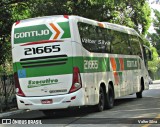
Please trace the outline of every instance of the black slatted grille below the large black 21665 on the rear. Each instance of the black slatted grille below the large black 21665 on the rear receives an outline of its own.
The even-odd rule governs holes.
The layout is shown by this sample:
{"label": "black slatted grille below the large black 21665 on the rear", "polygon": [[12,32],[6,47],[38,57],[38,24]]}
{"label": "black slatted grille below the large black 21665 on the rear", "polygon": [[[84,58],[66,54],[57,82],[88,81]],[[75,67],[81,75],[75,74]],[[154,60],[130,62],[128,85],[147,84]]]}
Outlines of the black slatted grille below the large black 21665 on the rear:
{"label": "black slatted grille below the large black 21665 on the rear", "polygon": [[68,58],[67,55],[54,55],[54,56],[42,56],[25,58],[20,60],[20,64],[23,68],[55,66],[66,64]]}

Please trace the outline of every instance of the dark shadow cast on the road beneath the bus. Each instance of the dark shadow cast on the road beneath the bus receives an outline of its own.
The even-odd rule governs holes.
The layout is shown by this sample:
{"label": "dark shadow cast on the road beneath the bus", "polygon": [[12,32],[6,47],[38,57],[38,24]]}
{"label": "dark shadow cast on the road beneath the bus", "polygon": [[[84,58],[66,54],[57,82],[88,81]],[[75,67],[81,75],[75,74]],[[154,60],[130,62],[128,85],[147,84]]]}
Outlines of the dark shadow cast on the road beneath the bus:
{"label": "dark shadow cast on the road beneath the bus", "polygon": [[[114,104],[114,106],[115,106],[114,108],[116,108],[120,105],[123,106],[126,103],[131,103],[136,100],[137,100],[137,98],[134,98],[134,97],[126,97],[126,98],[116,99],[115,104]],[[114,108],[111,110],[114,110]],[[105,111],[110,111],[110,110],[105,110]],[[81,107],[81,108],[69,108],[69,109],[57,110],[57,111],[53,110],[50,112],[54,113],[54,115],[52,117],[45,116],[42,112],[35,110],[35,111],[28,111],[23,114],[20,113],[20,114],[12,115],[7,118],[39,119],[39,120],[45,120],[45,121],[50,120],[52,122],[54,120],[55,123],[57,123],[57,122],[61,123],[61,120],[62,120],[67,123],[69,121],[73,121],[73,120],[85,117],[87,115],[92,115],[92,114],[97,113],[93,106]]]}

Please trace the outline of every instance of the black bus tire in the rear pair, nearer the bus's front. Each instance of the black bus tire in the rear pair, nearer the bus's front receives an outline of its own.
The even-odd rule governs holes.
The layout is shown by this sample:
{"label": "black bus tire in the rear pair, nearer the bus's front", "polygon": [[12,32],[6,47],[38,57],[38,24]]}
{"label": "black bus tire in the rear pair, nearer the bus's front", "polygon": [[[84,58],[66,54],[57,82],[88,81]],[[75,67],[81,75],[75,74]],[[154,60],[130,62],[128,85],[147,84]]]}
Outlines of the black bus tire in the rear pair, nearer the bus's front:
{"label": "black bus tire in the rear pair, nearer the bus's front", "polygon": [[113,108],[113,106],[114,106],[114,89],[109,84],[108,85],[107,97],[106,97],[106,108],[111,109],[111,108]]}

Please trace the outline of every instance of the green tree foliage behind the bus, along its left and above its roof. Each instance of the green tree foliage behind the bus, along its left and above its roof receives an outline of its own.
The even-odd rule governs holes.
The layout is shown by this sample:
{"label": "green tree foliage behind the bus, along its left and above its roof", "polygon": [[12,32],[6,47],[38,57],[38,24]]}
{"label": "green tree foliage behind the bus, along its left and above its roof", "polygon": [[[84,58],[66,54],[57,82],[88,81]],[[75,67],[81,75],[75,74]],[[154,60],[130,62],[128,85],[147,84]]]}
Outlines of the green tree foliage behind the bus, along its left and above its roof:
{"label": "green tree foliage behind the bus, along its left and above its roof", "polygon": [[[47,15],[78,15],[132,27],[145,35],[150,26],[146,0],[1,0],[0,65],[11,62],[11,26],[17,20]],[[139,29],[141,26],[141,30]]]}

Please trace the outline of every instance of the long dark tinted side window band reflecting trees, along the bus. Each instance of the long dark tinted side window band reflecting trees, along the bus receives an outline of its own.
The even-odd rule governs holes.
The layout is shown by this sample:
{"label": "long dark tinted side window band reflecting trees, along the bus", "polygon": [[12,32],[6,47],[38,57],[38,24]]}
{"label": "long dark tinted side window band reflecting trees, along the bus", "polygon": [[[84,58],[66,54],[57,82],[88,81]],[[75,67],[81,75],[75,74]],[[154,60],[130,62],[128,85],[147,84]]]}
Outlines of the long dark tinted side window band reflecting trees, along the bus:
{"label": "long dark tinted side window band reflecting trees, along the bus", "polygon": [[90,52],[139,55],[141,53],[137,36],[78,23],[82,45]]}

